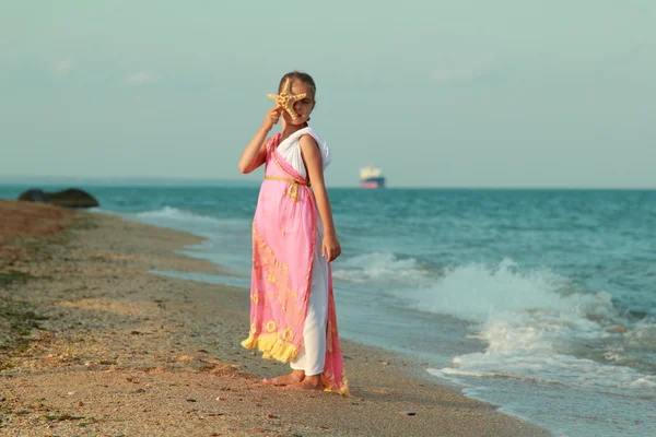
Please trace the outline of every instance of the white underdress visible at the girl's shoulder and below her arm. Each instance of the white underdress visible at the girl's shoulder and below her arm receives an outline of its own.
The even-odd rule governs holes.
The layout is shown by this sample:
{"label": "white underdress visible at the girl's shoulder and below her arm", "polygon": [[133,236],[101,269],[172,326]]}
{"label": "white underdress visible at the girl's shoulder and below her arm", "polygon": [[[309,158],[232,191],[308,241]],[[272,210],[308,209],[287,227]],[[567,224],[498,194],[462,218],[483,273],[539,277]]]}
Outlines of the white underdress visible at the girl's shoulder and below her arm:
{"label": "white underdress visible at the girl's shoulder and below her arm", "polygon": [[[330,151],[326,142],[312,129],[301,129],[278,145],[278,153],[282,155],[294,170],[307,178],[307,172],[301,156],[301,137],[309,134],[317,142],[324,158],[324,169],[330,164]],[[324,371],[326,359],[326,321],[328,318],[328,262],[321,257],[321,241],[324,228],[317,212],[316,247],[313,262],[312,285],[307,303],[307,316],[303,328],[303,346],[296,358],[290,363],[293,369],[301,369],[305,375],[319,375]]]}

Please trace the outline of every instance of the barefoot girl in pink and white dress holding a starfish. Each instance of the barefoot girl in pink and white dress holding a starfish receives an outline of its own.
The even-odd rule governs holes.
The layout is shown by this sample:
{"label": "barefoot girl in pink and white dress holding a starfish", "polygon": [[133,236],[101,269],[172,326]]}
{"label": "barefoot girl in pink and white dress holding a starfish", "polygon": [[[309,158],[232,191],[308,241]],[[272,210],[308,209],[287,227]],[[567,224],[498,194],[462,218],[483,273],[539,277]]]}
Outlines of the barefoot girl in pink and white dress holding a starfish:
{"label": "barefoot girl in pink and white dress holding a starfish", "polygon": [[[307,126],[314,80],[288,73],[279,93],[288,80],[295,117],[280,106],[269,109],[239,160],[242,173],[265,164],[253,222],[250,332],[242,345],[290,362],[289,375],[263,383],[347,394],[329,264],[341,253],[324,182],[330,152]],[[267,139],[281,116],[282,132]]]}

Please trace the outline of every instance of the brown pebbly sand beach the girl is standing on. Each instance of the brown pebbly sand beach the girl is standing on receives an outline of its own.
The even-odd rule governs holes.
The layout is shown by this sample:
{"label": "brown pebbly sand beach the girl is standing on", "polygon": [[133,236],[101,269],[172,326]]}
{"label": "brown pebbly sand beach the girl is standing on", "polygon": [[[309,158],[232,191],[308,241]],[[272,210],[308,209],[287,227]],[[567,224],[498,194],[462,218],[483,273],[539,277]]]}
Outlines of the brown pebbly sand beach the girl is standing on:
{"label": "brown pebbly sand beach the girl is standing on", "polygon": [[2,200],[0,221],[1,435],[549,435],[348,341],[351,397],[262,386],[288,365],[241,347],[248,292],[152,273],[220,273],[176,253],[201,238]]}

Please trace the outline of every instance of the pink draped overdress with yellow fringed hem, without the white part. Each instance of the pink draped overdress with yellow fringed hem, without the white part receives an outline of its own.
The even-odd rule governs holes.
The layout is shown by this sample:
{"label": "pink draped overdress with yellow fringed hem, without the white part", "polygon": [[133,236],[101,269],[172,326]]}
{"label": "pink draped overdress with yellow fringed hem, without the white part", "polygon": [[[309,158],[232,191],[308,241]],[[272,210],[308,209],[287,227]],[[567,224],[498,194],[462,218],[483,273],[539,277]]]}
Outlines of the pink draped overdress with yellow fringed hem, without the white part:
{"label": "pink draped overdress with yellow fringed hem, without the white part", "polygon": [[[278,152],[279,142],[280,133],[267,144],[265,180],[253,223],[250,331],[242,345],[257,347],[265,358],[293,362],[304,345],[313,270],[321,240],[314,193]],[[325,390],[347,394],[330,265],[326,268],[328,308],[321,380]]]}

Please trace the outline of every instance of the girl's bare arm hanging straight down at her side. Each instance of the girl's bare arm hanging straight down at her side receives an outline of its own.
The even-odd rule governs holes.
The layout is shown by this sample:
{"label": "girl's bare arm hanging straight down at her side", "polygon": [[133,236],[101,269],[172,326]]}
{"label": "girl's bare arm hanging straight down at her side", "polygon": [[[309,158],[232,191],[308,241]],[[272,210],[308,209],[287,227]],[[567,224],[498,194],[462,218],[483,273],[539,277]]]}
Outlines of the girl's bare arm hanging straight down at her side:
{"label": "girl's bare arm hanging straight down at her side", "polygon": [[328,199],[328,191],[324,181],[324,157],[312,135],[303,135],[298,142],[301,143],[301,156],[307,169],[307,176],[309,177],[312,190],[317,200],[317,209],[319,210],[324,225],[321,256],[328,257],[328,262],[330,262],[341,255],[341,247],[335,232],[330,199]]}

